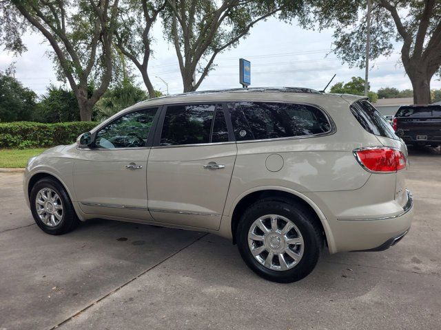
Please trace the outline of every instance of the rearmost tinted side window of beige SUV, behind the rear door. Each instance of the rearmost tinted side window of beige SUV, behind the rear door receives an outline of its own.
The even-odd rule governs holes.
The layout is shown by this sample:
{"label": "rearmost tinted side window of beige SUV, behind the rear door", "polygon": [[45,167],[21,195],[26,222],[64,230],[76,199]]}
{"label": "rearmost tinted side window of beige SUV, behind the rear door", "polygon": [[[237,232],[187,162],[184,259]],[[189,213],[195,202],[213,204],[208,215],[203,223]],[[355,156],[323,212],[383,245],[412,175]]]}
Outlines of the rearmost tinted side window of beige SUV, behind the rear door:
{"label": "rearmost tinted side window of beige SUV, behind the rear door", "polygon": [[236,140],[263,140],[331,131],[320,109],[307,104],[235,102],[228,104]]}

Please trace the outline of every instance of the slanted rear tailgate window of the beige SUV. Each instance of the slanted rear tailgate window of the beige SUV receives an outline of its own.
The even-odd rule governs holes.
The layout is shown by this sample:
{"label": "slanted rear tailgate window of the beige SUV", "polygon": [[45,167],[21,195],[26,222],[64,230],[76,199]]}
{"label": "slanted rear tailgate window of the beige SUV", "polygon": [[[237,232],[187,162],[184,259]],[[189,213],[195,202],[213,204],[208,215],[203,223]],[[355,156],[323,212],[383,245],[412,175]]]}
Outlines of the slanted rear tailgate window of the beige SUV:
{"label": "slanted rear tailgate window of the beige SUV", "polygon": [[395,135],[391,124],[367,100],[353,102],[350,109],[363,129],[369,133],[398,140],[398,136]]}

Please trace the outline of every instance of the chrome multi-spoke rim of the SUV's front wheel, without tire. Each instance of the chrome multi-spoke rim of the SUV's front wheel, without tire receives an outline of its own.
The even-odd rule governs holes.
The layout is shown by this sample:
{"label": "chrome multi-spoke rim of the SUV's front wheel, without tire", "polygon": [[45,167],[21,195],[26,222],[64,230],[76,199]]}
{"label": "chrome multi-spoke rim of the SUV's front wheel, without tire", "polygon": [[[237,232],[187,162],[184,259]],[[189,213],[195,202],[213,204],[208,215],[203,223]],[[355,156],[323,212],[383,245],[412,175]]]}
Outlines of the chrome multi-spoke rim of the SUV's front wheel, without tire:
{"label": "chrome multi-spoke rim of the SUV's front wheel, without tire", "polygon": [[35,207],[41,221],[49,227],[58,225],[63,219],[63,203],[51,188],[43,188],[37,193]]}

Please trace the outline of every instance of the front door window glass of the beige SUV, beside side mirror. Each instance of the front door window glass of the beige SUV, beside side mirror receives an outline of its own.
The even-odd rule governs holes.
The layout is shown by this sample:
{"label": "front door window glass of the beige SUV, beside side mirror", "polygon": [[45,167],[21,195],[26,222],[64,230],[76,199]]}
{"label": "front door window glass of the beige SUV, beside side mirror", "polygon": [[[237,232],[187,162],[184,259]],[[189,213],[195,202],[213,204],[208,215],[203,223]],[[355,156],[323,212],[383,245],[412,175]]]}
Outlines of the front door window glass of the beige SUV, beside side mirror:
{"label": "front door window glass of the beige SUV, beside side mirror", "polygon": [[157,110],[133,111],[107,124],[96,133],[96,146],[107,149],[145,146]]}

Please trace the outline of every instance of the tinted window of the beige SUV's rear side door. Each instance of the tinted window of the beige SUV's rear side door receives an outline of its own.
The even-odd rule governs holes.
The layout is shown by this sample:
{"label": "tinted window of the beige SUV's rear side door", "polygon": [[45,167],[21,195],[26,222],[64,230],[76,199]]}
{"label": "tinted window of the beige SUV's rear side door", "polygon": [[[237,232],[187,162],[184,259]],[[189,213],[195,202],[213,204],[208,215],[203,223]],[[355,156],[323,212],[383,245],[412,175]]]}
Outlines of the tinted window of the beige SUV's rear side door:
{"label": "tinted window of the beige SUV's rear side door", "polygon": [[219,104],[181,104],[167,107],[161,146],[210,142],[210,133]]}

